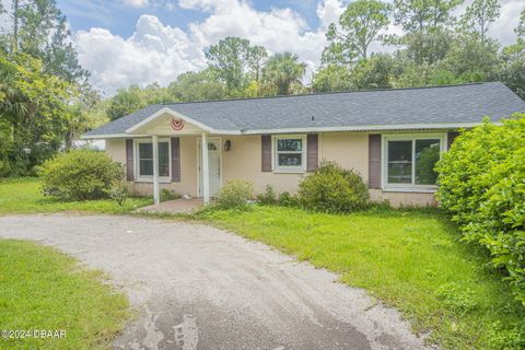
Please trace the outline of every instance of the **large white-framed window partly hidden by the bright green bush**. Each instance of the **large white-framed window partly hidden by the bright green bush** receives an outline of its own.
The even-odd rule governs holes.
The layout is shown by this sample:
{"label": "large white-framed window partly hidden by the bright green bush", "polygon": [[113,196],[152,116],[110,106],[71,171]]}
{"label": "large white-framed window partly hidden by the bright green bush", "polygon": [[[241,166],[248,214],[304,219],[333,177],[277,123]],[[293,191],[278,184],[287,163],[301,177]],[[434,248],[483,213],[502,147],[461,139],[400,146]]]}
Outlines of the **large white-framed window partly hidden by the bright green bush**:
{"label": "large white-framed window partly hidden by the bright green bush", "polygon": [[435,191],[435,163],[445,151],[446,133],[384,135],[384,190]]}

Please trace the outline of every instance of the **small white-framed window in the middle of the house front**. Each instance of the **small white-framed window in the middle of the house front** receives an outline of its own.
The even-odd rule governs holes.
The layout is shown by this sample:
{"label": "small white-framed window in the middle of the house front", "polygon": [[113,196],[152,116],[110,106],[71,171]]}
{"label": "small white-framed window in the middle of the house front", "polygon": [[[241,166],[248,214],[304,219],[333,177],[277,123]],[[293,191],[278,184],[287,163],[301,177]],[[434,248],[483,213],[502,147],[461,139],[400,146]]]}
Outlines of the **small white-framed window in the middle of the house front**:
{"label": "small white-framed window in the middle of the house front", "polygon": [[306,171],[306,136],[283,135],[272,137],[272,163],[277,173]]}

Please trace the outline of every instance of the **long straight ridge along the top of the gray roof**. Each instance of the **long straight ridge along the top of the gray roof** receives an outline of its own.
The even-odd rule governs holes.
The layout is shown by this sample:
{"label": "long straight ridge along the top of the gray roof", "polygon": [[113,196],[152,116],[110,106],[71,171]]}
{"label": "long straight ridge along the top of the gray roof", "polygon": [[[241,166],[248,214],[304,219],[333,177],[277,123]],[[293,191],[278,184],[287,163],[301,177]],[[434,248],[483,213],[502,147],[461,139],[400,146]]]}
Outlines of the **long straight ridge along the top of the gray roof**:
{"label": "long straight ridge along the top of the gray roof", "polygon": [[296,95],[278,95],[278,96],[258,96],[258,97],[235,97],[235,98],[224,98],[224,100],[206,100],[206,101],[187,101],[187,102],[166,102],[160,103],[161,106],[170,105],[185,105],[185,104],[205,104],[212,102],[232,102],[232,101],[252,101],[252,100],[273,100],[273,98],[293,98],[293,97],[305,97],[305,96],[322,96],[322,95],[339,95],[339,94],[353,94],[353,93],[366,93],[366,92],[384,92],[384,91],[405,91],[405,90],[428,90],[428,89],[444,89],[444,88],[458,88],[458,86],[470,86],[470,85],[483,85],[491,83],[500,83],[500,81],[486,81],[486,82],[471,82],[471,83],[459,83],[459,84],[447,84],[447,85],[431,85],[431,86],[411,86],[411,88],[383,88],[383,89],[369,89],[369,90],[348,90],[348,91],[330,91],[330,92],[317,92],[317,93],[304,93]]}

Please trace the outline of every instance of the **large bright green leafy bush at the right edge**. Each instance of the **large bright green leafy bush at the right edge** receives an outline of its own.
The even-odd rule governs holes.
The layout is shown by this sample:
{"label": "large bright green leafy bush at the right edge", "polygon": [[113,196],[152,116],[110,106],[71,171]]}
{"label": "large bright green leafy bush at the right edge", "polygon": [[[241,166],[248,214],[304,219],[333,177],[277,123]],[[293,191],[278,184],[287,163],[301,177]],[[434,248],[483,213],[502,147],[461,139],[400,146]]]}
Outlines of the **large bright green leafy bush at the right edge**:
{"label": "large bright green leafy bush at the right edge", "polygon": [[525,305],[525,115],[463,132],[436,170],[441,207],[489,249]]}

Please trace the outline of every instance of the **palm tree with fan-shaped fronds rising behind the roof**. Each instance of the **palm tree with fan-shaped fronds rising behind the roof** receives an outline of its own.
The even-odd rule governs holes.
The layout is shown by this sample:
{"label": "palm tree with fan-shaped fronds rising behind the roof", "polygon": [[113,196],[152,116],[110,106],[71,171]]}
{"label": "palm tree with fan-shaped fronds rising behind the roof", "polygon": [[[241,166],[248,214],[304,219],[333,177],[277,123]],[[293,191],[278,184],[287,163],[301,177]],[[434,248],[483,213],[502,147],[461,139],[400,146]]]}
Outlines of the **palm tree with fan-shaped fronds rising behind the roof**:
{"label": "palm tree with fan-shaped fronds rising behind the roof", "polygon": [[262,80],[277,91],[277,95],[289,95],[293,83],[301,84],[306,65],[299,56],[290,52],[276,54],[268,59],[262,69]]}

